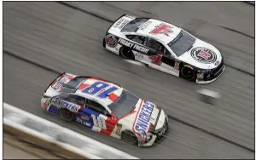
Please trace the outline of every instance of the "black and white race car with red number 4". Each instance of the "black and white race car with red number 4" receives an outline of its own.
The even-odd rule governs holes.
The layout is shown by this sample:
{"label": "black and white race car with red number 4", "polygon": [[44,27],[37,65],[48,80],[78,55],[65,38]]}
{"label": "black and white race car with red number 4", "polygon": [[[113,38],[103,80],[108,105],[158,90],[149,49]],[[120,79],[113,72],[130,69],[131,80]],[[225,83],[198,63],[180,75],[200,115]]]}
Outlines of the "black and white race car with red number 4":
{"label": "black and white race car with red number 4", "polygon": [[108,28],[103,47],[196,83],[212,83],[224,72],[218,49],[162,20],[123,14]]}

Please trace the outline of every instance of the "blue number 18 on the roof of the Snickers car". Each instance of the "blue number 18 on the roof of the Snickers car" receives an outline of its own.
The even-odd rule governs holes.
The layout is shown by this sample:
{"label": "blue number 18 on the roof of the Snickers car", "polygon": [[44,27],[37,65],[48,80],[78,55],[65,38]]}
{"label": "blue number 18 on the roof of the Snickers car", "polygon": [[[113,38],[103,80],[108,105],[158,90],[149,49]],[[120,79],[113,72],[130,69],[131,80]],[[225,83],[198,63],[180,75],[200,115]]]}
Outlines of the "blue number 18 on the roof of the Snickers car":
{"label": "blue number 18 on the roof of the Snickers car", "polygon": [[117,89],[114,86],[112,88],[106,89],[108,87],[108,83],[96,82],[85,88],[82,92],[84,92],[85,94],[97,94],[97,97],[99,98],[106,98],[108,97],[108,94],[112,93]]}

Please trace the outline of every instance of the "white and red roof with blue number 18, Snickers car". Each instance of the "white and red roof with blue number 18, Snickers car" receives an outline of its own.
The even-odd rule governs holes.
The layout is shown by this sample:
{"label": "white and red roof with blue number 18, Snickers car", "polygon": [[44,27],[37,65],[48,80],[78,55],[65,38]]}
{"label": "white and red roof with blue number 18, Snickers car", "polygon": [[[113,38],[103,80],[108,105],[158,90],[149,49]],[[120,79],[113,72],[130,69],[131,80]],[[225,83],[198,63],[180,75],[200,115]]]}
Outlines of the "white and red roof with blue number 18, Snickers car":
{"label": "white and red roof with blue number 18, Snickers car", "polygon": [[108,106],[119,98],[122,91],[123,88],[119,85],[90,77],[79,85],[79,89],[76,90],[75,94],[79,94],[90,100],[96,100],[97,102],[101,101]]}

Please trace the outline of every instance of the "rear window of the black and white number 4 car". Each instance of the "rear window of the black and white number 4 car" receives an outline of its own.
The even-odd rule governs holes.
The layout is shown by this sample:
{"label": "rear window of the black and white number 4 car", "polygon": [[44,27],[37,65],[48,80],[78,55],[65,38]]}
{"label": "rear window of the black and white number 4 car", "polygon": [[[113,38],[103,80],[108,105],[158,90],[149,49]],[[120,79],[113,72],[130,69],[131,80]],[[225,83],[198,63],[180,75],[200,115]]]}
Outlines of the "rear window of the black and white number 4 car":
{"label": "rear window of the black and white number 4 car", "polygon": [[137,18],[131,20],[121,31],[122,32],[136,32],[143,23],[145,23],[148,19],[146,18]]}

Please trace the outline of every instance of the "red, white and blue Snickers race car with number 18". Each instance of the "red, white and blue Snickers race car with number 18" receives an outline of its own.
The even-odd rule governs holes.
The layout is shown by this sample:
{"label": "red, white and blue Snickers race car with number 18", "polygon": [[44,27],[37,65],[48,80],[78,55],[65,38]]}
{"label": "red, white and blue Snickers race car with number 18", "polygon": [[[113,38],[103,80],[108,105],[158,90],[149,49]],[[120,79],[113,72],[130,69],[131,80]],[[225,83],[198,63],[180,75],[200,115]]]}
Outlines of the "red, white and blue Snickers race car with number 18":
{"label": "red, white and blue Snickers race car with number 18", "polygon": [[153,146],[168,132],[168,117],[159,106],[96,77],[61,74],[45,90],[41,106],[67,122],[137,146]]}

